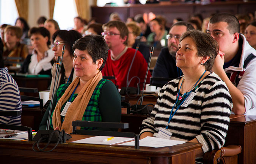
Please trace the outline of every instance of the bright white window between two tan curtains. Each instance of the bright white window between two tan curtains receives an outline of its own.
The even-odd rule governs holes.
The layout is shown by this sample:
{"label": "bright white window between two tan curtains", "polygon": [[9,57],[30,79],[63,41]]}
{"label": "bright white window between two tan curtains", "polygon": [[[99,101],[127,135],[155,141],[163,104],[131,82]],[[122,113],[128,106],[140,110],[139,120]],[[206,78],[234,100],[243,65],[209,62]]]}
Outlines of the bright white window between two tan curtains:
{"label": "bright white window between two tan curtains", "polygon": [[55,0],[53,19],[58,22],[60,29],[71,30],[76,16],[77,11],[73,0]]}

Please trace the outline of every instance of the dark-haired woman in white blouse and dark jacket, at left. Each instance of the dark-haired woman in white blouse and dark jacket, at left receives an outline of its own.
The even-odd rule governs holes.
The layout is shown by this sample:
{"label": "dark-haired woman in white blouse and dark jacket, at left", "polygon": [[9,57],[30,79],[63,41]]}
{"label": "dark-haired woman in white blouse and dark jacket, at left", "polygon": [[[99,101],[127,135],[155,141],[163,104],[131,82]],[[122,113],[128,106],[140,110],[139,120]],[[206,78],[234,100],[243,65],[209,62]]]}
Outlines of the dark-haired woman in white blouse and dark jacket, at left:
{"label": "dark-haired woman in white blouse and dark jacket, at left", "polygon": [[49,48],[50,32],[44,27],[34,27],[30,29],[28,35],[34,49],[32,54],[25,59],[21,72],[51,76],[54,52]]}

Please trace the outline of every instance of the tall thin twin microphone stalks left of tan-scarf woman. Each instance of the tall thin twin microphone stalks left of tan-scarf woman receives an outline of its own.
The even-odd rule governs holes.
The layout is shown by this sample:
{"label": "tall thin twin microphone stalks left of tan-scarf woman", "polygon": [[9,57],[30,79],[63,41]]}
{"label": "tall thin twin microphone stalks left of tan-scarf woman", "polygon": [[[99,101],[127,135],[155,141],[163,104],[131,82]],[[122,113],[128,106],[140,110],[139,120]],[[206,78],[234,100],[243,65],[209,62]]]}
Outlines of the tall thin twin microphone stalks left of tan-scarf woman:
{"label": "tall thin twin microphone stalks left of tan-scarf woman", "polygon": [[56,89],[58,81],[59,81],[60,68],[61,68],[64,52],[65,52],[65,45],[63,45],[63,47],[62,47],[62,55],[61,55],[61,57],[58,57],[57,63],[56,63],[56,74],[55,74],[55,79],[54,79],[54,83],[53,83],[52,99],[51,99],[51,103],[50,103],[50,110],[49,110],[48,120],[47,120],[47,124],[46,124],[46,130],[49,130],[49,128],[50,128],[50,117],[52,115],[53,96],[55,94],[55,89]]}

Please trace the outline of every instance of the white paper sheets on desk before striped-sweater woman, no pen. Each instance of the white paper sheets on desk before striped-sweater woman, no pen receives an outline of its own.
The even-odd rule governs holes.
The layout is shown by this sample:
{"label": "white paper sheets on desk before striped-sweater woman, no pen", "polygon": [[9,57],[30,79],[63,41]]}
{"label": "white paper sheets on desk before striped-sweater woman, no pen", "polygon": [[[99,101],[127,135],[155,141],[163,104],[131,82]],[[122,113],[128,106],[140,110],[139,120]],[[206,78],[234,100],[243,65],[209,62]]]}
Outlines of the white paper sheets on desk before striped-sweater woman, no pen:
{"label": "white paper sheets on desk before striped-sweater woman, no pen", "polygon": [[[147,147],[165,147],[165,146],[174,146],[174,145],[183,144],[183,143],[186,143],[186,141],[162,139],[162,138],[156,138],[156,137],[150,137],[150,136],[140,139],[140,146],[147,146]],[[118,146],[134,146],[134,141],[118,144]]]}

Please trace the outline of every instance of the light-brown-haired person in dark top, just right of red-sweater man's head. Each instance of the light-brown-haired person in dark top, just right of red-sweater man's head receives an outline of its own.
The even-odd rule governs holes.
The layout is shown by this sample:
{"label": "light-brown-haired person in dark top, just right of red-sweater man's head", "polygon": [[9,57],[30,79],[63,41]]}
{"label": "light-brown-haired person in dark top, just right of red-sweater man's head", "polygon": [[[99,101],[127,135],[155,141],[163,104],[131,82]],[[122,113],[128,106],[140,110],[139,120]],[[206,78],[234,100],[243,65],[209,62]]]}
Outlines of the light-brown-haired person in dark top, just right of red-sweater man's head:
{"label": "light-brown-haired person in dark top, just right of red-sweater man's head", "polygon": [[[128,47],[136,49],[138,43],[140,43],[136,38],[140,35],[140,27],[136,25],[135,22],[130,22],[126,24],[129,35],[128,35]],[[149,47],[143,43],[140,43],[138,51],[141,52],[146,62],[149,61]]]}

